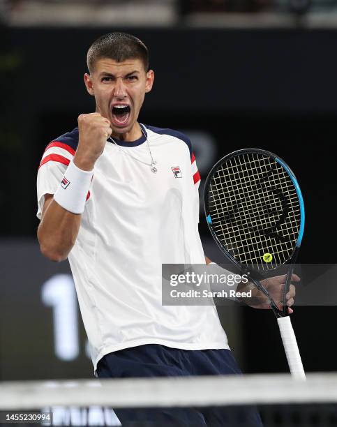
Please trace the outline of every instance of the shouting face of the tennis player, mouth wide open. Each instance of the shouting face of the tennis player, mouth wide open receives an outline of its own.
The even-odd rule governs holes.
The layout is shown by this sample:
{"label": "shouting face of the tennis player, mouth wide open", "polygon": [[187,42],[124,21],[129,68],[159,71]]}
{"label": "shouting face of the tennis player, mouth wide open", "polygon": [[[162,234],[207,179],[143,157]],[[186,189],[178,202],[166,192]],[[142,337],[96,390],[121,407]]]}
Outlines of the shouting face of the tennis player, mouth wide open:
{"label": "shouting face of the tennis player, mouth wide open", "polygon": [[151,91],[153,71],[140,59],[116,62],[99,59],[91,75],[84,75],[88,92],[95,96],[96,111],[107,118],[113,135],[133,133],[145,93]]}

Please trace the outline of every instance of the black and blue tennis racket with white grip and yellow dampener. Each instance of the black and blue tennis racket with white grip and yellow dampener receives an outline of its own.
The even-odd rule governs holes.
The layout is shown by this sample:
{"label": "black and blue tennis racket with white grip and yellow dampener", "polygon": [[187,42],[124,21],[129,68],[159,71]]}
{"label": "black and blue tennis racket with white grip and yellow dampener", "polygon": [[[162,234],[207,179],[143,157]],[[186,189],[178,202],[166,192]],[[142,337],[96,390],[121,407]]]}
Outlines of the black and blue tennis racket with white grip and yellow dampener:
{"label": "black and blue tennis racket with white grip and yellow dampener", "polygon": [[[209,172],[204,209],[220,250],[269,298],[290,372],[304,379],[285,298],[304,233],[304,202],[297,179],[286,163],[269,151],[234,151]],[[280,310],[258,279],[284,264],[289,266]]]}

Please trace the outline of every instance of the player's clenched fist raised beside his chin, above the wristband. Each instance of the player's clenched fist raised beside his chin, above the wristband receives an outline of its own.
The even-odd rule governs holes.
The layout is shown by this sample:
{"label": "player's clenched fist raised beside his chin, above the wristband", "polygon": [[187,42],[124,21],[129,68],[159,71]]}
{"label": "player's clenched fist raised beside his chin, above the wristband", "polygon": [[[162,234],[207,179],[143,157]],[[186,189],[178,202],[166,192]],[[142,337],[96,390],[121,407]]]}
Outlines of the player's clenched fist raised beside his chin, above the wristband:
{"label": "player's clenched fist raised beside his chin, above the wristband", "polygon": [[107,137],[112,134],[110,121],[100,113],[80,114],[78,121],[78,147],[74,163],[82,170],[93,170],[103,153]]}

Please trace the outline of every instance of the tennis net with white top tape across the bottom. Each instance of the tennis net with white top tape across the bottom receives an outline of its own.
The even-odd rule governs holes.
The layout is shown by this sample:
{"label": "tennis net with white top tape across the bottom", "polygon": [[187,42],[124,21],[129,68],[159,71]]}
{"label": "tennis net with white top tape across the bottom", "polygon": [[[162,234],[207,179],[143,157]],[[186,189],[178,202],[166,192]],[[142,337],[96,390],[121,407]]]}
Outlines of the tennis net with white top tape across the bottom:
{"label": "tennis net with white top tape across the bottom", "polygon": [[35,411],[52,414],[44,426],[118,426],[121,419],[133,427],[255,427],[257,410],[264,427],[337,426],[337,373],[306,381],[233,375],[0,382],[2,422],[5,414]]}

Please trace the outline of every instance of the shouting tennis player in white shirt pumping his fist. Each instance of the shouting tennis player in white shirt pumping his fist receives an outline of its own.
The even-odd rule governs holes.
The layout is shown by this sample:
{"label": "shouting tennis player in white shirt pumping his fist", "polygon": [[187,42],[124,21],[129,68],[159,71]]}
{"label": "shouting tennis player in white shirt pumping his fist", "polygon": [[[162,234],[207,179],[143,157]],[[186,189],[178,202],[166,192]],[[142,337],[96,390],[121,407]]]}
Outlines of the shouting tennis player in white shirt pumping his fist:
{"label": "shouting tennis player in white shirt pumping his fist", "polygon": [[[37,215],[43,255],[70,262],[95,374],[239,374],[214,306],[161,304],[162,264],[204,264],[205,256],[190,140],[138,121],[154,80],[147,47],[108,33],[89,48],[87,65],[84,84],[96,112],[81,114],[77,128],[47,145]],[[283,282],[269,279],[269,290],[281,292]],[[292,286],[289,306],[293,297]],[[264,297],[259,305],[269,306]],[[117,415],[135,419],[130,411]],[[160,415],[172,425],[233,426],[220,410]],[[255,410],[241,417],[245,426],[261,426]]]}

